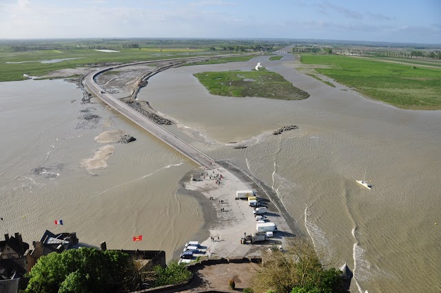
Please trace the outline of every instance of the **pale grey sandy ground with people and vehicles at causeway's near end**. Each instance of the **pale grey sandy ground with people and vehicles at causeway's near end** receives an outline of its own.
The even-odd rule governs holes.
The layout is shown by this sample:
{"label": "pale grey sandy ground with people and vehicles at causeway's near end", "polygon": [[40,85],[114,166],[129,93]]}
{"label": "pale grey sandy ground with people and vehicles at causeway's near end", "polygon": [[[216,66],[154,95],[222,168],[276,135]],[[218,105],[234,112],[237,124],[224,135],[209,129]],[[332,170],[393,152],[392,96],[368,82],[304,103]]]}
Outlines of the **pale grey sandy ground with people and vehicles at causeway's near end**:
{"label": "pale grey sandy ground with people and vehicles at causeway's near end", "polygon": [[[283,205],[280,205],[280,201],[276,206],[270,201],[267,188],[228,162],[216,162],[216,167],[218,168],[212,170],[206,168],[192,170],[181,181],[182,189],[185,190],[178,190],[178,193],[194,195],[205,209],[203,228],[205,233],[197,237],[205,239],[201,243],[202,247],[206,247],[205,256],[223,258],[258,256],[272,245],[285,247],[287,239],[295,236],[293,234],[295,223]],[[274,233],[273,238],[253,244],[240,243],[245,233],[248,235],[256,232],[257,221],[253,214],[254,209],[249,207],[248,202],[235,199],[236,190],[256,191],[260,204],[268,208],[265,216],[277,225],[278,231]],[[282,215],[280,207],[283,209]],[[291,225],[284,216],[289,217]]]}

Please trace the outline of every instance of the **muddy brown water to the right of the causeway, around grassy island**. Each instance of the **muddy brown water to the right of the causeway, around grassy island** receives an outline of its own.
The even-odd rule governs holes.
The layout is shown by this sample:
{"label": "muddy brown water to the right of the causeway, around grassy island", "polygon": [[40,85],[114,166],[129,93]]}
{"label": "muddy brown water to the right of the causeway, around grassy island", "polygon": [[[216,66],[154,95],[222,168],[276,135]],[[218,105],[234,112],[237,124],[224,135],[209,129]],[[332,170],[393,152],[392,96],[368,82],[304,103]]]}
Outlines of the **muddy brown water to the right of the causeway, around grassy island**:
{"label": "muddy brown water to the right of the causeway, around grassy island", "polygon": [[[400,110],[331,88],[298,74],[293,59],[167,70],[139,99],[174,119],[197,148],[274,188],[316,249],[355,269],[352,292],[440,291],[441,112]],[[214,97],[192,76],[257,62],[311,97]],[[271,135],[285,125],[299,129]],[[248,148],[226,145],[234,141]],[[365,172],[372,190],[356,183]]]}

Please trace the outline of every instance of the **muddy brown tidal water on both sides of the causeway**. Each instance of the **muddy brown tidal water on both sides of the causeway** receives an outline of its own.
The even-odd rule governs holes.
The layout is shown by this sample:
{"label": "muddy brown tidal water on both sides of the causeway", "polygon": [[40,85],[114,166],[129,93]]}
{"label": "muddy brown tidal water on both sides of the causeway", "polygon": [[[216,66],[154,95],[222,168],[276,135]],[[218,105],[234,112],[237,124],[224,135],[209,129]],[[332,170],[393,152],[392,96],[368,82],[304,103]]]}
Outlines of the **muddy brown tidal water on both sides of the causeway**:
{"label": "muddy brown tidal water on both sides of the causeway", "polygon": [[[441,112],[399,110],[331,88],[298,74],[292,59],[166,70],[139,99],[174,120],[167,128],[196,148],[274,188],[302,236],[355,270],[351,292],[440,291]],[[257,62],[311,97],[214,97],[192,76]],[[0,83],[1,234],[21,232],[32,243],[46,229],[70,231],[90,245],[162,249],[170,259],[202,225],[196,199],[176,195],[196,165],[81,97],[63,81]],[[271,135],[285,125],[299,129]],[[137,141],[94,139],[116,129]],[[234,141],[248,147],[233,149]],[[370,191],[356,183],[365,171]],[[134,243],[139,234],[144,240]]]}

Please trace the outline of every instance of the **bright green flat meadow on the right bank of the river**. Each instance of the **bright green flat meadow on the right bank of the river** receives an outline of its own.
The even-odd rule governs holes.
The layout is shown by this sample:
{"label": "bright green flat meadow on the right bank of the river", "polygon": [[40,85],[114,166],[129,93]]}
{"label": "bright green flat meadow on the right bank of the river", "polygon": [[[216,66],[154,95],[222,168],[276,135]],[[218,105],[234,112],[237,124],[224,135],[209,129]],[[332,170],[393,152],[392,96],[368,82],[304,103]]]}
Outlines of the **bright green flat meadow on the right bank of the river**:
{"label": "bright green flat meadow on the right bank of the river", "polygon": [[371,99],[402,109],[441,110],[441,70],[337,55],[303,54],[302,63]]}

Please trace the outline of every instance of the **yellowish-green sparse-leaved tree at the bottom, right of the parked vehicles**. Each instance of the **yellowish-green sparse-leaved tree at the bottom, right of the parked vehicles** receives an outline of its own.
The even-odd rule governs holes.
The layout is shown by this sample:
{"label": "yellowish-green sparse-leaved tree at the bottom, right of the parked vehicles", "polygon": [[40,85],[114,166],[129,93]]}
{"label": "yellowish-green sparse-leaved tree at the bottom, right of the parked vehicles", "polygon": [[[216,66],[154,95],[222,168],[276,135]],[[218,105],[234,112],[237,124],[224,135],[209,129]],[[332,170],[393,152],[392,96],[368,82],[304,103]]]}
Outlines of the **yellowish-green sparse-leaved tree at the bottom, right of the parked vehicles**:
{"label": "yellowish-green sparse-leaved tree at the bottom, right of the parked vehicles", "polygon": [[296,240],[285,252],[265,254],[252,282],[256,293],[340,293],[345,292],[341,275],[340,270],[322,265],[309,243]]}

